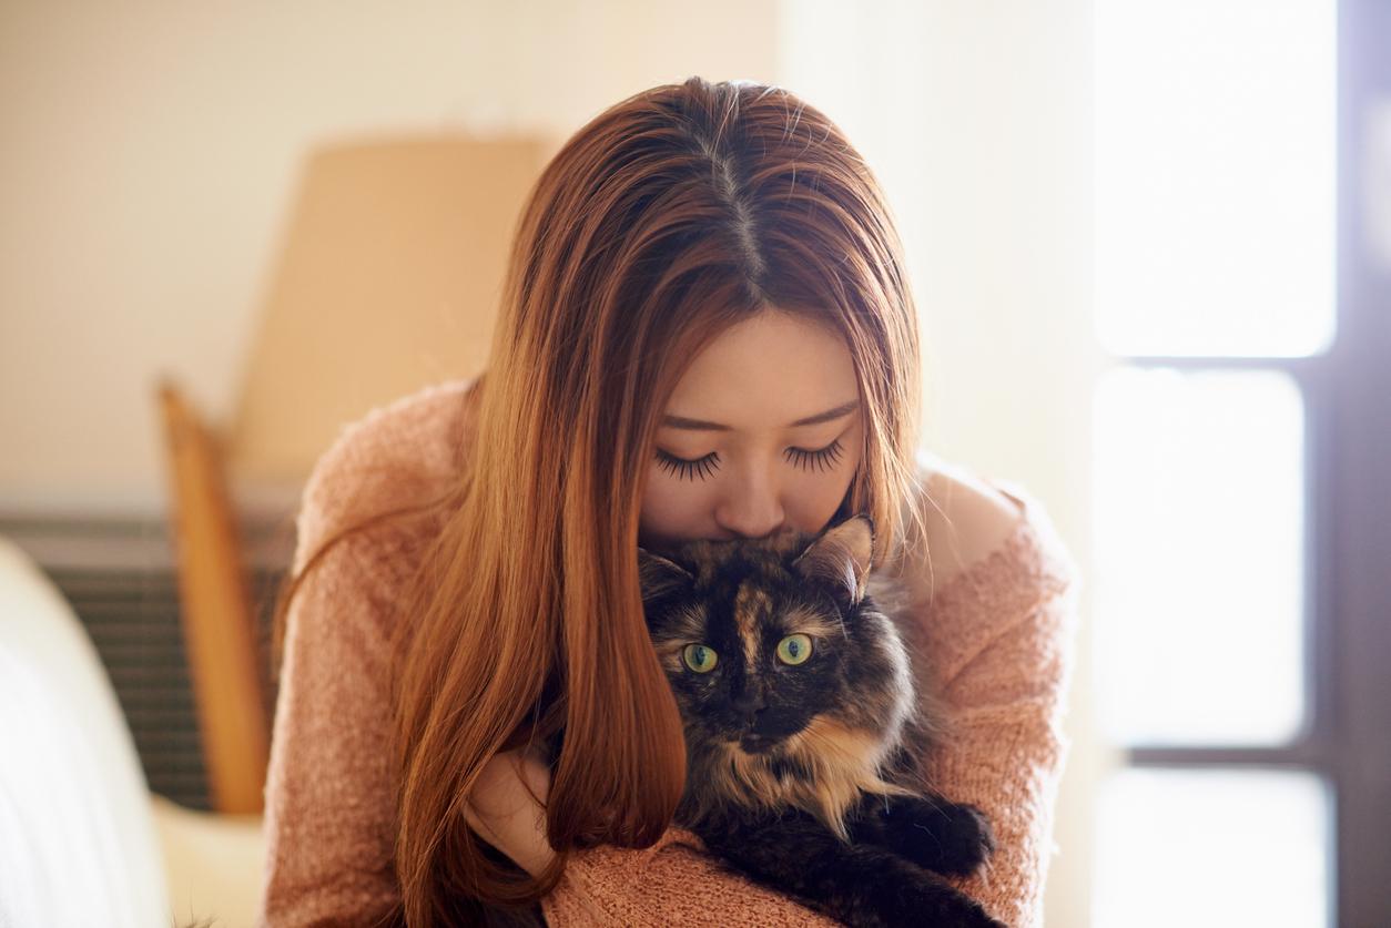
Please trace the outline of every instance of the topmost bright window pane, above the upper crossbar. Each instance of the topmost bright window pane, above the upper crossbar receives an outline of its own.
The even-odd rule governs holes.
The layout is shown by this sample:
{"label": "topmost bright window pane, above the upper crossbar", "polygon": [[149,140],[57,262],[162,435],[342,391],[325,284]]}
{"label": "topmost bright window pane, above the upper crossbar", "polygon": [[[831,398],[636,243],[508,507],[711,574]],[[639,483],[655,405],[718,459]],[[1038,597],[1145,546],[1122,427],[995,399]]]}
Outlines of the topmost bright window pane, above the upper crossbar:
{"label": "topmost bright window pane, above the upper crossbar", "polygon": [[1323,351],[1337,4],[1093,10],[1097,337],[1117,355]]}

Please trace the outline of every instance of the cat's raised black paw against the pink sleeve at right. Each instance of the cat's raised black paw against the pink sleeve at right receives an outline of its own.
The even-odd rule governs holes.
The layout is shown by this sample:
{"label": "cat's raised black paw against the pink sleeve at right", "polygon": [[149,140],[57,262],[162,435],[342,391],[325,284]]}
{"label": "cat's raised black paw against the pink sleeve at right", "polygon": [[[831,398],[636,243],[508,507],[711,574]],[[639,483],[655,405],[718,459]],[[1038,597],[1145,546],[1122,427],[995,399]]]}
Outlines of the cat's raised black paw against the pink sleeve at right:
{"label": "cat's raised black paw against the pink sleeve at right", "polygon": [[882,808],[887,843],[918,867],[965,877],[995,851],[995,832],[975,806],[903,797]]}

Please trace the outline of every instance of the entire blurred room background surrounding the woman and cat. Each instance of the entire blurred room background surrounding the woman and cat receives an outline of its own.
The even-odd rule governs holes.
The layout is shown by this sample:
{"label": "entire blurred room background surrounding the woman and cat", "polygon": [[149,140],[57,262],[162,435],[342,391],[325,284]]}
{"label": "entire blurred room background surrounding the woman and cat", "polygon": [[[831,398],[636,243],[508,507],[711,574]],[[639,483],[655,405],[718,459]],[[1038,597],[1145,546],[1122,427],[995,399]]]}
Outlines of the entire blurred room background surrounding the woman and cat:
{"label": "entire blurred room background surrounding the woman and cat", "polygon": [[1084,566],[1049,924],[1391,924],[1388,47],[1374,0],[0,4],[0,914],[250,924],[309,469],[485,367],[541,166],[700,74],[842,125],[928,447]]}

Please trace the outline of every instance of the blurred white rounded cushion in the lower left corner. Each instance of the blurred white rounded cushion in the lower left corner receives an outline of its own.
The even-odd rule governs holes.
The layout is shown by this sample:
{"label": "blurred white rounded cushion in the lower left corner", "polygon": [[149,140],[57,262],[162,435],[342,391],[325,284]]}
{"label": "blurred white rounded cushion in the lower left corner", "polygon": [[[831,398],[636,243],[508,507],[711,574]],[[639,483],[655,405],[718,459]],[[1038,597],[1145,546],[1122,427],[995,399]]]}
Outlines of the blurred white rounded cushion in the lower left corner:
{"label": "blurred white rounded cushion in the lower left corner", "polygon": [[168,925],[149,787],[63,594],[0,537],[0,928]]}

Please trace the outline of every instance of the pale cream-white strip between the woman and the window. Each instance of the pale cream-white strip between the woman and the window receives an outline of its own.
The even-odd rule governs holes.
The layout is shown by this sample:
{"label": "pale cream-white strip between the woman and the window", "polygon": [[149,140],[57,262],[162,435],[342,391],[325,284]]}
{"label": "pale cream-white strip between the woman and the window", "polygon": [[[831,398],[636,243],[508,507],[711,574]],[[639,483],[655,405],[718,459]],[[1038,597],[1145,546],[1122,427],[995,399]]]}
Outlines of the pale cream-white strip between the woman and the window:
{"label": "pale cream-white strip between the woman and the window", "polygon": [[[1015,480],[1091,562],[1092,0],[794,4],[789,86],[887,188],[926,342],[926,438]],[[842,11],[842,13],[837,13]],[[849,18],[847,18],[849,17]],[[1086,925],[1092,794],[1116,758],[1092,717],[1091,590],[1049,874],[1052,925]]]}

